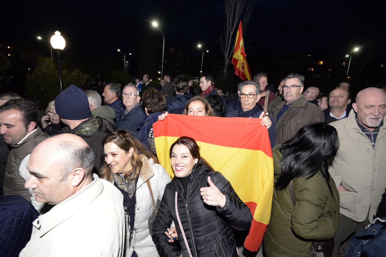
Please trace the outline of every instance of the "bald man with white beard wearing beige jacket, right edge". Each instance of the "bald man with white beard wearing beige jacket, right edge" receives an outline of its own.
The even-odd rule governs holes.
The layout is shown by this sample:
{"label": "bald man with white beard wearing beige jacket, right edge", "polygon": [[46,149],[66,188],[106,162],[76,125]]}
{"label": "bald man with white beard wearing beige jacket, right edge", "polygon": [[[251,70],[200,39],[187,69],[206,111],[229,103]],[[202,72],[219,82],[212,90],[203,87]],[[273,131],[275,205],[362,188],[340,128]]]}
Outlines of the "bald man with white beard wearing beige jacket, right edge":
{"label": "bald man with white beard wearing beige jacket, right edge", "polygon": [[332,256],[337,256],[340,243],[350,234],[374,220],[386,188],[386,94],[376,87],[363,89],[352,108],[347,119],[330,123],[340,141],[328,170],[340,197]]}

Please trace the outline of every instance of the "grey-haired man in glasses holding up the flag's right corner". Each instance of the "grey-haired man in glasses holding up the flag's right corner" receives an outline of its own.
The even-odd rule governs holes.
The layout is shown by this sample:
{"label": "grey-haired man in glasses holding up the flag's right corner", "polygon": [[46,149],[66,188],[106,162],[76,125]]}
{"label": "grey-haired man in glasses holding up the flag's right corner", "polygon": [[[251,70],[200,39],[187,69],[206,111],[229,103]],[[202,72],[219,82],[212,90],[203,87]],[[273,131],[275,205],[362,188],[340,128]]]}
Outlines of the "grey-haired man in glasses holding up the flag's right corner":
{"label": "grey-haired man in glasses holding up the flag's right corner", "polygon": [[244,81],[239,84],[238,91],[241,108],[227,114],[227,117],[259,118],[261,126],[267,126],[271,147],[275,145],[275,122],[257,103],[260,99],[260,86],[255,81]]}

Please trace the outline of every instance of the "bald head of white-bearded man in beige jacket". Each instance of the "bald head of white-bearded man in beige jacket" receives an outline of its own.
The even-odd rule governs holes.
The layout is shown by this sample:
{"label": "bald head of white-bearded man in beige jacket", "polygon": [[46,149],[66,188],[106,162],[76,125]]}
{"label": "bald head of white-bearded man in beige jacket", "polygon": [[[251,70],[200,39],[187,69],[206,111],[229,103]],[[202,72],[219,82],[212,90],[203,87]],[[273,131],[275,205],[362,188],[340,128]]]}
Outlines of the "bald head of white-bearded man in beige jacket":
{"label": "bald head of white-bearded man in beige jacket", "polygon": [[352,108],[357,119],[369,131],[374,130],[383,121],[386,114],[386,93],[379,88],[369,87],[359,91]]}

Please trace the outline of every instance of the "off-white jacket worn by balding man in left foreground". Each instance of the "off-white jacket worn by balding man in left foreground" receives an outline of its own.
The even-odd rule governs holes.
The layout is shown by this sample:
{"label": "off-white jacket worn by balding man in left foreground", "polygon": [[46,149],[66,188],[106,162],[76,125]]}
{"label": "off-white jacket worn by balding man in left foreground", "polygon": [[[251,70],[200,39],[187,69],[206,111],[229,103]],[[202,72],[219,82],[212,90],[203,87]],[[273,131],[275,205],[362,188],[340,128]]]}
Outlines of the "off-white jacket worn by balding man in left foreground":
{"label": "off-white jacket worn by balding man in left foreground", "polygon": [[114,185],[93,181],[34,220],[20,257],[122,257],[125,240],[123,196]]}

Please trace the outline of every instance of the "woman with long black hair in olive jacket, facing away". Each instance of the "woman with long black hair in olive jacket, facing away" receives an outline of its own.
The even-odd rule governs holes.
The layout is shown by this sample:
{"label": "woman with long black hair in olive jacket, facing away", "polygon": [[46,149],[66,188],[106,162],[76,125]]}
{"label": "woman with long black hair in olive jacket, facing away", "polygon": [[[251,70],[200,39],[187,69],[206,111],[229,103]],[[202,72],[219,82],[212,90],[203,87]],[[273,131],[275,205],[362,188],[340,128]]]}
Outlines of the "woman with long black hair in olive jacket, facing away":
{"label": "woman with long black hair in olive jacket, facing away", "polygon": [[[334,237],[339,193],[328,173],[328,161],[338,148],[334,127],[310,123],[273,149],[275,186],[271,219],[264,235],[268,257],[310,257],[318,247],[315,242]],[[328,256],[326,250],[323,248]]]}

